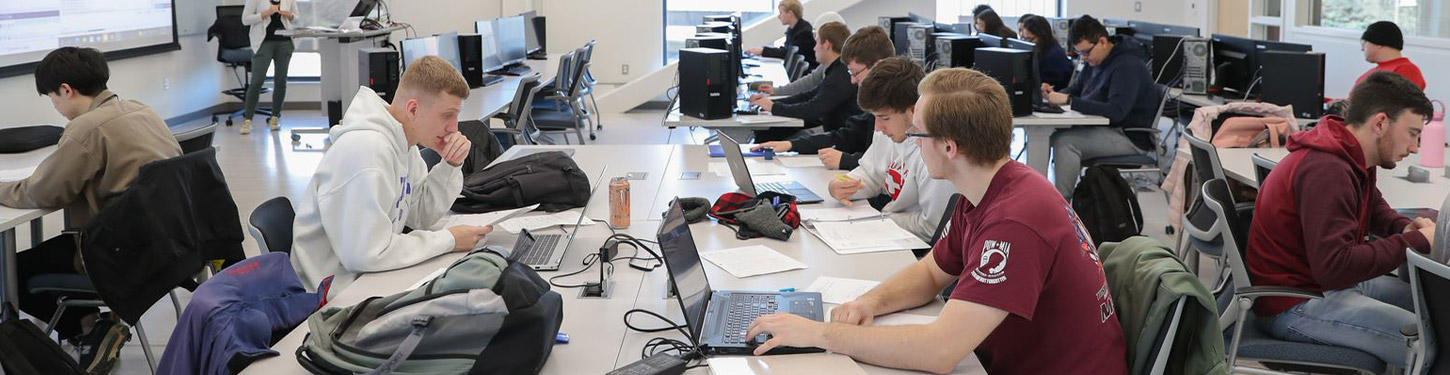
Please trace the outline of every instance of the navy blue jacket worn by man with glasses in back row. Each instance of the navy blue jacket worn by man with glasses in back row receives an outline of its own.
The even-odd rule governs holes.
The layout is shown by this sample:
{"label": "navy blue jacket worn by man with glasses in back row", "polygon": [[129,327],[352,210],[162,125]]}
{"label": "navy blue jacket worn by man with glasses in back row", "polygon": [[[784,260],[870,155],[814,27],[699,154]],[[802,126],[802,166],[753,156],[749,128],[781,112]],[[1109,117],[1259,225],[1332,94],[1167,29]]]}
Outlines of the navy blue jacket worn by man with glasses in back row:
{"label": "navy blue jacket worn by man with glasses in back row", "polygon": [[[1153,88],[1153,74],[1143,56],[1143,45],[1134,38],[1111,36],[1112,52],[1098,67],[1083,68],[1066,94],[1073,110],[1108,117],[1115,127],[1153,127],[1161,97]],[[1102,46],[1098,46],[1102,48]],[[1153,149],[1153,136],[1130,133],[1140,149]]]}

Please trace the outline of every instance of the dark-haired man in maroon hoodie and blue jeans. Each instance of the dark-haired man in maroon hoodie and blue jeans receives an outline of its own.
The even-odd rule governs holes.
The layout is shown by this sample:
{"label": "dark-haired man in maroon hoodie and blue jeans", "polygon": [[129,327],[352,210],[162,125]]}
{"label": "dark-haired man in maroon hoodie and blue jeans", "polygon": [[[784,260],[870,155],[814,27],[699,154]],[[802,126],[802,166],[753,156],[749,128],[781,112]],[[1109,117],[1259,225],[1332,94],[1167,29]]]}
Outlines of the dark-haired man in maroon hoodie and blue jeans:
{"label": "dark-haired man in maroon hoodie and blue jeans", "polygon": [[1409,368],[1401,333],[1417,321],[1409,284],[1385,274],[1405,265],[1405,249],[1430,253],[1436,223],[1389,207],[1375,175],[1418,152],[1433,109],[1418,85],[1388,71],[1364,77],[1350,103],[1344,117],[1289,138],[1289,156],[1259,188],[1244,252],[1254,285],[1324,298],[1264,297],[1254,313],[1275,337]]}

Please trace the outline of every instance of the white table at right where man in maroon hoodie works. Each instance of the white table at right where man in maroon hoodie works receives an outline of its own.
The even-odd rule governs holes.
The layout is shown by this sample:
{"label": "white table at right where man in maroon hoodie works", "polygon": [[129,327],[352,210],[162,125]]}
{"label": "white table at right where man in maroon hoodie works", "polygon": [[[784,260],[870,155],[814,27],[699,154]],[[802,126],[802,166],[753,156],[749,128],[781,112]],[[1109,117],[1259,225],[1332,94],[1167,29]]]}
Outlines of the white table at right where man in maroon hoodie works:
{"label": "white table at right where man in maroon hoodie works", "polygon": [[[1279,162],[1289,155],[1289,151],[1283,148],[1218,149],[1218,161],[1224,165],[1224,175],[1259,187],[1251,159],[1254,153]],[[1409,182],[1405,180],[1409,175],[1409,167],[1420,167],[1420,155],[1409,155],[1396,164],[1395,169],[1380,169],[1376,174],[1376,187],[1385,195],[1385,201],[1395,208],[1440,208],[1440,204],[1450,195],[1450,178],[1444,175],[1444,168],[1421,167],[1430,169],[1430,181]]]}

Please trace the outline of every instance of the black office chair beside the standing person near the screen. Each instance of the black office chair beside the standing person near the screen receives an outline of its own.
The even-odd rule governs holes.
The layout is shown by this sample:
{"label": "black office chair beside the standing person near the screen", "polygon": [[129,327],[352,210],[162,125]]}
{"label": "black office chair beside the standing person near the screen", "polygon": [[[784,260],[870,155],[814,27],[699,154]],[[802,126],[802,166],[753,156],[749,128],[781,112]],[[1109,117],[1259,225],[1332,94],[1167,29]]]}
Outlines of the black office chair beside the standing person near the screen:
{"label": "black office chair beside the standing person near the screen", "polygon": [[[249,32],[251,26],[242,25],[242,6],[218,6],[216,22],[212,23],[212,28],[206,29],[207,42],[210,42],[212,38],[218,39],[216,61],[222,62],[228,68],[232,68],[232,75],[236,77],[236,84],[241,85],[238,88],[223,90],[222,94],[235,97],[244,103],[246,101],[246,88],[251,85],[252,75],[252,43]],[[262,87],[260,90],[260,94],[265,93],[271,93],[271,88]],[[212,123],[216,123],[218,116],[226,114],[226,126],[232,126],[232,119],[245,114],[245,111],[246,109],[212,113]],[[257,113],[262,116],[273,116],[270,107],[258,107]]]}

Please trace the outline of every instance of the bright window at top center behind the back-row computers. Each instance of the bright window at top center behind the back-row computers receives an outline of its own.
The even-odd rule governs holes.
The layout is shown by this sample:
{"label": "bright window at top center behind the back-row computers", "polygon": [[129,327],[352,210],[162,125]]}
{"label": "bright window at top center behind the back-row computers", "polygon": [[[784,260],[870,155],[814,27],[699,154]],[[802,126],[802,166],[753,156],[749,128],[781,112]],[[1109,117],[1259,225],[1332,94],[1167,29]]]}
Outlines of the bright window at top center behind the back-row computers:
{"label": "bright window at top center behind the back-row computers", "polygon": [[[811,6],[811,4],[806,4]],[[776,16],[776,0],[664,0],[664,59],[680,59],[684,39],[695,36],[695,25],[705,16],[731,14],[740,12],[741,25],[748,28],[760,20]]]}

